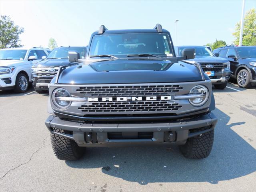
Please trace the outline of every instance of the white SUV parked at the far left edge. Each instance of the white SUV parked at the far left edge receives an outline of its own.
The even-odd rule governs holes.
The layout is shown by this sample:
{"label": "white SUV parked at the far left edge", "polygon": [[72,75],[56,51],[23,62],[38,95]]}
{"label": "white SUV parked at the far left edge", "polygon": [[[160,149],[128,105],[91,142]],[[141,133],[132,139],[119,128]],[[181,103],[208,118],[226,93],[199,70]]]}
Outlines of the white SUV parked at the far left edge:
{"label": "white SUV parked at the far left edge", "polygon": [[31,67],[46,57],[47,48],[7,48],[0,50],[0,90],[26,92],[31,81]]}

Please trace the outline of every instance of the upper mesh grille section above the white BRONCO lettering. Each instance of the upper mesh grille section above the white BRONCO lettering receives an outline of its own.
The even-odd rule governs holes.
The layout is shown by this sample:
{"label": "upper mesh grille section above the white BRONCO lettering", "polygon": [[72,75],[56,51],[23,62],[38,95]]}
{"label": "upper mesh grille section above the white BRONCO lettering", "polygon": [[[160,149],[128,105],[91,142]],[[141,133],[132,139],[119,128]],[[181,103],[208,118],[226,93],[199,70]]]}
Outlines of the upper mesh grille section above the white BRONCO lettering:
{"label": "upper mesh grille section above the white BRONCO lettering", "polygon": [[179,92],[180,85],[143,85],[143,86],[86,86],[76,91],[84,96],[165,96]]}

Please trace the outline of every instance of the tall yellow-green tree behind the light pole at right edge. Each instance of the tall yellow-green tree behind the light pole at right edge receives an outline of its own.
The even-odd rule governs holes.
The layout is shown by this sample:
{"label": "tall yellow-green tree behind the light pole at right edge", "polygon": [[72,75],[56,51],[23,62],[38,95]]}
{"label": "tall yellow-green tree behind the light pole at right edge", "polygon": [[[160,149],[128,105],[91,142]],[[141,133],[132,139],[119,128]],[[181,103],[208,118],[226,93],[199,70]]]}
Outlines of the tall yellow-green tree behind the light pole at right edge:
{"label": "tall yellow-green tree behind the light pole at right edge", "polygon": [[[239,44],[240,36],[240,23],[236,24],[236,31],[233,36],[236,38],[234,44]],[[244,30],[243,30],[243,40],[242,45],[252,46],[256,45],[256,10],[255,8],[249,10],[244,16]]]}

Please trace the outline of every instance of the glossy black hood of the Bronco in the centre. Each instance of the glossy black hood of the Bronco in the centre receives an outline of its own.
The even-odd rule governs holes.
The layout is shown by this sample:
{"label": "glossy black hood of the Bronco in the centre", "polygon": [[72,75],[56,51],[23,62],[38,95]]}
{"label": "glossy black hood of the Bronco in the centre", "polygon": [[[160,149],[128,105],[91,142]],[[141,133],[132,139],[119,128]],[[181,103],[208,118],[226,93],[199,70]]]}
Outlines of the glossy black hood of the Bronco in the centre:
{"label": "glossy black hood of the Bronco in the centre", "polygon": [[159,59],[116,59],[71,66],[59,84],[118,84],[201,81],[193,64]]}

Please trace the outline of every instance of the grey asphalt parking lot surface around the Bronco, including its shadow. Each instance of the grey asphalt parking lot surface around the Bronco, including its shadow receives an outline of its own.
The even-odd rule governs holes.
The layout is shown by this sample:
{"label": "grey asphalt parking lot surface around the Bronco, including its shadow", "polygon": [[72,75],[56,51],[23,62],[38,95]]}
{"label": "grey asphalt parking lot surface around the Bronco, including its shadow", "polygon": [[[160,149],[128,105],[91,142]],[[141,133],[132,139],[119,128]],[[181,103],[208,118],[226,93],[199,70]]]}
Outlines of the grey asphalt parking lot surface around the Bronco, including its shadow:
{"label": "grey asphalt parking lot surface around the Bronco, including its shadow", "polygon": [[87,148],[58,160],[44,125],[48,94],[0,92],[0,191],[256,191],[256,89],[213,87],[218,117],[203,160],[177,146]]}

